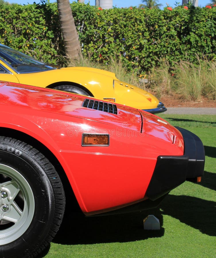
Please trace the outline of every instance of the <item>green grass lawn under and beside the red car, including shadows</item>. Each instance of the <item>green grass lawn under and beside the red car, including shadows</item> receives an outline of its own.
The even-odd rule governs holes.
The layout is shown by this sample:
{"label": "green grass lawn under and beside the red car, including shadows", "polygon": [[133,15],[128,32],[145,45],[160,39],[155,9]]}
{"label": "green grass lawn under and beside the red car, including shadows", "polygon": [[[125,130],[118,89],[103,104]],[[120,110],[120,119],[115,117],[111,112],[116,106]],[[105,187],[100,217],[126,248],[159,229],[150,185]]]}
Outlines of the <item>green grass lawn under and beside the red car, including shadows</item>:
{"label": "green grass lawn under and beside the red car, including shadows", "polygon": [[[158,208],[85,218],[68,214],[43,257],[216,257],[216,116],[160,115],[197,134],[205,146],[202,182],[185,182]],[[155,215],[161,230],[143,230]]]}

